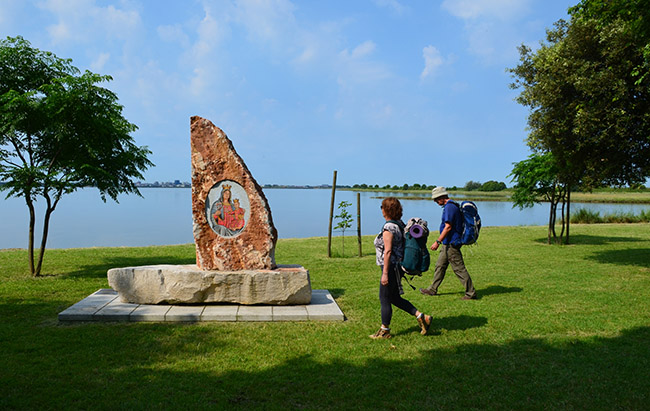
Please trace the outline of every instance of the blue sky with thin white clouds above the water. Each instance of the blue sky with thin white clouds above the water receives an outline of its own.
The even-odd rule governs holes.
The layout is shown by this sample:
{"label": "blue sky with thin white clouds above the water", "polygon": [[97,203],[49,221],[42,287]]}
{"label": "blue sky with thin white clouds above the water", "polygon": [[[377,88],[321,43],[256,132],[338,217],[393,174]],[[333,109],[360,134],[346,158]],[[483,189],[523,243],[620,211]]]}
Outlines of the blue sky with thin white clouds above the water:
{"label": "blue sky with thin white clouds above the water", "polygon": [[190,117],[260,184],[463,186],[524,160],[508,68],[578,0],[0,0],[0,36],[108,74],[155,167],[190,181]]}

